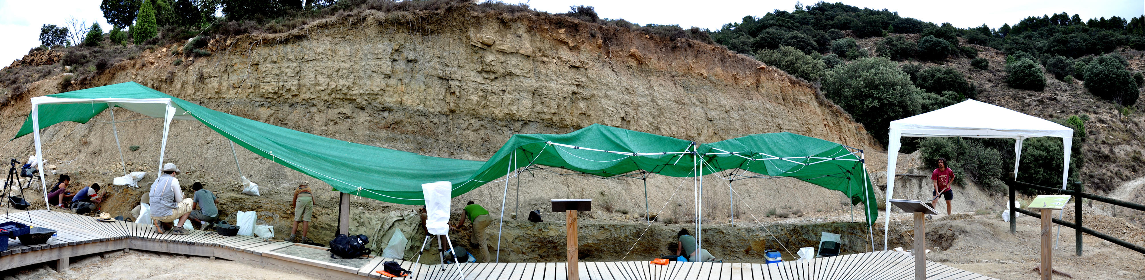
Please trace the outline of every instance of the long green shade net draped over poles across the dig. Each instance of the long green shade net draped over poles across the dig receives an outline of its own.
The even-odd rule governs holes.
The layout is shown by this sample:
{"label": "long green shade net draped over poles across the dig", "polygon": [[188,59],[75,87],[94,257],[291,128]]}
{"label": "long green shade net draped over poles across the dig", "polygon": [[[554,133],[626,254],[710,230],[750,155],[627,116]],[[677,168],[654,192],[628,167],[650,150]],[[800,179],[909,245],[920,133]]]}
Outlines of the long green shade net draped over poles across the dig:
{"label": "long green shade net draped over poles across the dig", "polygon": [[[592,125],[561,135],[514,135],[489,161],[473,161],[421,155],[297,131],[206,109],[135,82],[49,96],[171,98],[177,109],[251,152],[321,179],[340,192],[394,203],[423,205],[424,183],[451,182],[452,195],[457,197],[485,183],[507,178],[506,175],[518,168],[532,166],[558,167],[601,177],[642,171],[693,177],[697,173],[706,175],[729,170],[727,175],[721,175],[726,177],[732,176],[731,171],[747,170],[758,174],[756,176],[793,177],[843,192],[853,205],[862,202],[868,208],[868,221],[875,221],[877,215],[877,209],[869,203],[875,199],[874,189],[858,153],[837,143],[790,133],[757,134],[694,145],[673,137]],[[98,102],[44,104],[40,105],[40,127],[63,121],[84,123],[106,109],[106,103]],[[13,138],[30,133],[31,118]]]}

